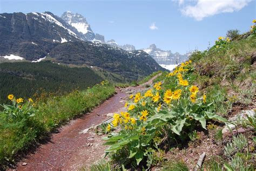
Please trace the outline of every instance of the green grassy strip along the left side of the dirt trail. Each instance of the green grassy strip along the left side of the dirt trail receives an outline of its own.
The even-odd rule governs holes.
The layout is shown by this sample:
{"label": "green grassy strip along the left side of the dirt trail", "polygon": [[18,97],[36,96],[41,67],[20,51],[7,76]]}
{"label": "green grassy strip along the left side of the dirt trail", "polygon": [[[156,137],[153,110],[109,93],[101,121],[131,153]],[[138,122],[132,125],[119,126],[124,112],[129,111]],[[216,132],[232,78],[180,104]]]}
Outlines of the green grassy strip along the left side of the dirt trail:
{"label": "green grassy strip along the left side of the dirt trail", "polygon": [[65,122],[91,111],[114,92],[112,85],[97,85],[84,91],[42,99],[36,103],[34,117],[16,122],[8,121],[6,114],[0,113],[0,166],[15,162],[17,154]]}

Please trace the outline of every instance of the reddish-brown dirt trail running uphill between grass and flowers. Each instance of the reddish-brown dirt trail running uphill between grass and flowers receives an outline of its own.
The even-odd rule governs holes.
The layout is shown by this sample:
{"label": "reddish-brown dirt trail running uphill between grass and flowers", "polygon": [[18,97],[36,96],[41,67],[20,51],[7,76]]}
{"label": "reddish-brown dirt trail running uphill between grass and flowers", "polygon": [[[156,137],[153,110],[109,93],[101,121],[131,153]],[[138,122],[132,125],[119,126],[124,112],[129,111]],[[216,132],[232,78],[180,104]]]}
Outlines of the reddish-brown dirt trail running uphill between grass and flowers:
{"label": "reddish-brown dirt trail running uphill between grass and flowers", "polygon": [[[158,76],[160,74],[143,85],[152,84]],[[146,90],[143,85],[117,89],[117,94],[92,112],[60,128],[48,143],[42,144],[36,152],[18,162],[16,170],[79,170],[83,166],[89,168],[92,163],[104,157],[106,146],[102,145],[105,135],[97,135],[88,128],[107,120],[111,113],[125,110],[124,99],[131,93]]]}

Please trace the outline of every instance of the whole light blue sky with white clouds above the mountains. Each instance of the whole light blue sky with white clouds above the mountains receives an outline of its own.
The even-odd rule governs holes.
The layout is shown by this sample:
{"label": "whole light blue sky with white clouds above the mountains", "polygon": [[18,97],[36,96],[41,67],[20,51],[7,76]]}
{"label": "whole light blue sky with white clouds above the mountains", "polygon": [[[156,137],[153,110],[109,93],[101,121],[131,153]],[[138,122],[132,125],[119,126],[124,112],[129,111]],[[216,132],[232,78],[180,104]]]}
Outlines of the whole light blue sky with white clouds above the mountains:
{"label": "whole light blue sky with white clouds above the mountains", "polygon": [[82,14],[93,32],[132,44],[136,49],[156,44],[163,50],[186,53],[205,50],[226,31],[250,30],[256,18],[255,0],[38,1],[0,0],[0,13],[64,11]]}

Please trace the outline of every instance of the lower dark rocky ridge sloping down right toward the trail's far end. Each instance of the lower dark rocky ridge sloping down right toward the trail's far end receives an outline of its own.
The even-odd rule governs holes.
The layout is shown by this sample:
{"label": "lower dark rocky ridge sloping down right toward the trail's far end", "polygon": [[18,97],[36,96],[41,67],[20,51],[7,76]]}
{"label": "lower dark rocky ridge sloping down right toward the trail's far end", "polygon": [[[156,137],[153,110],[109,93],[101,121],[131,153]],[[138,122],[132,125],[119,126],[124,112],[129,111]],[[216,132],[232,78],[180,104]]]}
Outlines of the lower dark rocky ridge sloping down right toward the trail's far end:
{"label": "lower dark rocky ridge sloping down right toward the trail's far end", "polygon": [[58,44],[49,56],[59,63],[87,65],[123,77],[124,81],[138,80],[155,71],[165,71],[143,51],[127,52],[106,44],[67,42]]}

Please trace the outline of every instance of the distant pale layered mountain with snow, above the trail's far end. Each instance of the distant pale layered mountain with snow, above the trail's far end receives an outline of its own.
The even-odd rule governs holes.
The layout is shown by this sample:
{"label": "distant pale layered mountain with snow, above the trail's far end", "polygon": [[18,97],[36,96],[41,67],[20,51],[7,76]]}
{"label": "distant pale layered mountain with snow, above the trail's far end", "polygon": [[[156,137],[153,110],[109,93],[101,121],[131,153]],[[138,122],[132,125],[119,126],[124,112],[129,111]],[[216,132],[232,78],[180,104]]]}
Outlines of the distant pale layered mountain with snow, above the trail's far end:
{"label": "distant pale layered mountain with snow, above the trail's far end", "polygon": [[188,54],[180,54],[178,52],[172,53],[171,51],[164,51],[155,44],[150,45],[149,48],[143,49],[146,53],[150,54],[158,64],[180,64],[188,58]]}

